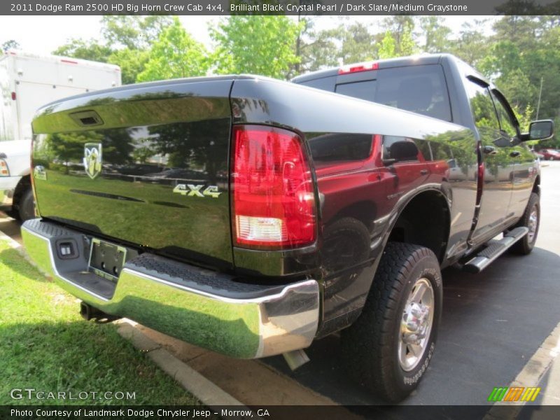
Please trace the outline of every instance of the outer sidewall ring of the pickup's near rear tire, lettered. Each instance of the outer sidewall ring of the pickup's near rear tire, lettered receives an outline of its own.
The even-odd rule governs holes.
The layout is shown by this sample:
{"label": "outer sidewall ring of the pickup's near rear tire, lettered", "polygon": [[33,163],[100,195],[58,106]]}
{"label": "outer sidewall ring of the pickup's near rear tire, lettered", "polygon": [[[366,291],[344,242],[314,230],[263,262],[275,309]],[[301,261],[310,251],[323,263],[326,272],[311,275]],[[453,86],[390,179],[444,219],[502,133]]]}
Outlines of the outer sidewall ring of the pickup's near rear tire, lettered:
{"label": "outer sidewall ring of the pickup's near rear tire, lettered", "polygon": [[[428,279],[433,288],[434,292],[434,316],[433,324],[430,331],[430,337],[428,339],[427,348],[423,353],[420,363],[414,367],[414,369],[406,372],[400,367],[398,359],[398,344],[400,342],[400,323],[402,318],[402,312],[405,309],[407,299],[410,295],[414,284],[418,279],[422,277]],[[391,353],[393,353],[393,374],[395,376],[395,384],[398,384],[400,391],[402,393],[410,393],[419,384],[419,381],[426,373],[430,360],[433,356],[433,351],[435,349],[435,341],[437,338],[437,330],[440,325],[440,319],[442,316],[442,275],[440,272],[440,266],[435,258],[424,257],[422,258],[409,272],[407,276],[407,282],[405,287],[400,293],[400,300],[398,304],[398,315],[395,317],[395,325],[393,325],[394,339]]]}

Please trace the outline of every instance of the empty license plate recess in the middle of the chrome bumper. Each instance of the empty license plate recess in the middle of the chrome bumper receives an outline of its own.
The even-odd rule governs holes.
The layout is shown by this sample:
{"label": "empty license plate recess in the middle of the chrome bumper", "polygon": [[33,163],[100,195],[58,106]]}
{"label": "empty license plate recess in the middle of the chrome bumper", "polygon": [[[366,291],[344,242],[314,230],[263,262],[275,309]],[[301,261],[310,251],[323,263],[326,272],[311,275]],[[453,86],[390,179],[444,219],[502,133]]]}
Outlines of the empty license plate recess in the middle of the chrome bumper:
{"label": "empty license plate recess in the middle of the chrome bumper", "polygon": [[101,239],[92,239],[90,272],[104,279],[117,282],[127,260],[127,248]]}

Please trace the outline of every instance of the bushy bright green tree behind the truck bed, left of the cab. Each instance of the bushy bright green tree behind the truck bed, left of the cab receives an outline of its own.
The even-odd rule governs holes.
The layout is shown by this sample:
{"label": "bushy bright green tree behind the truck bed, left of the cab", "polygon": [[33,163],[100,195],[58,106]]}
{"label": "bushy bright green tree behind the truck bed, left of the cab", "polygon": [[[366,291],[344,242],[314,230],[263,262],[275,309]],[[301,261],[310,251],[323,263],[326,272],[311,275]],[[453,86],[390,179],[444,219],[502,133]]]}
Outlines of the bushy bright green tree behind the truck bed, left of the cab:
{"label": "bushy bright green tree behind the truck bed, left of the cab", "polygon": [[287,78],[293,64],[295,41],[300,27],[287,16],[230,16],[210,29],[216,44],[213,62],[216,73],[255,73]]}

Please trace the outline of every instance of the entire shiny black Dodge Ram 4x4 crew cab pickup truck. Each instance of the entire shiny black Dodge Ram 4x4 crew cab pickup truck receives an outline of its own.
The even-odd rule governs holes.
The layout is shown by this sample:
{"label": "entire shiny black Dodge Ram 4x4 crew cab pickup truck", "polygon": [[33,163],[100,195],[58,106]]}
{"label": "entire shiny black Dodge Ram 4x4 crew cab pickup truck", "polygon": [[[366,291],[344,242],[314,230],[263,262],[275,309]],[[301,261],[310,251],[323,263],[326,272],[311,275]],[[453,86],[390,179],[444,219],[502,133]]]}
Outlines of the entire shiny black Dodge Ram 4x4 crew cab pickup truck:
{"label": "entire shiny black Dodge Ram 4x4 crew cab pickup truck", "polygon": [[339,332],[349,372],[398,401],[433,355],[440,269],[531,252],[524,141],[553,126],[521,132],[479,73],[426,55],[92,92],[33,130],[22,236],[85,318],[295,366]]}

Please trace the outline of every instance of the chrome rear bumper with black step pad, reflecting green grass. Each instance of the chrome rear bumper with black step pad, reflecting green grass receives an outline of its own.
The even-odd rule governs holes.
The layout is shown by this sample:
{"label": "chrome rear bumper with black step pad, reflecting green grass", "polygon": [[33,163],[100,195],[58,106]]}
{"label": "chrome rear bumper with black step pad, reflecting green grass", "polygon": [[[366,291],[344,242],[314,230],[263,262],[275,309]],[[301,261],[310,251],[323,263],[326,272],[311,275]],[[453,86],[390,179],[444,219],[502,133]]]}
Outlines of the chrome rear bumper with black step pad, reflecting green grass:
{"label": "chrome rear bumper with black step pad, reflecting green grass", "polygon": [[[27,253],[66,291],[102,311],[237,358],[304,349],[315,337],[319,287],[308,279],[256,286],[152,254],[129,260],[115,283],[88,270],[91,237],[40,219],[22,225]],[[76,258],[57,253],[73,241]]]}

